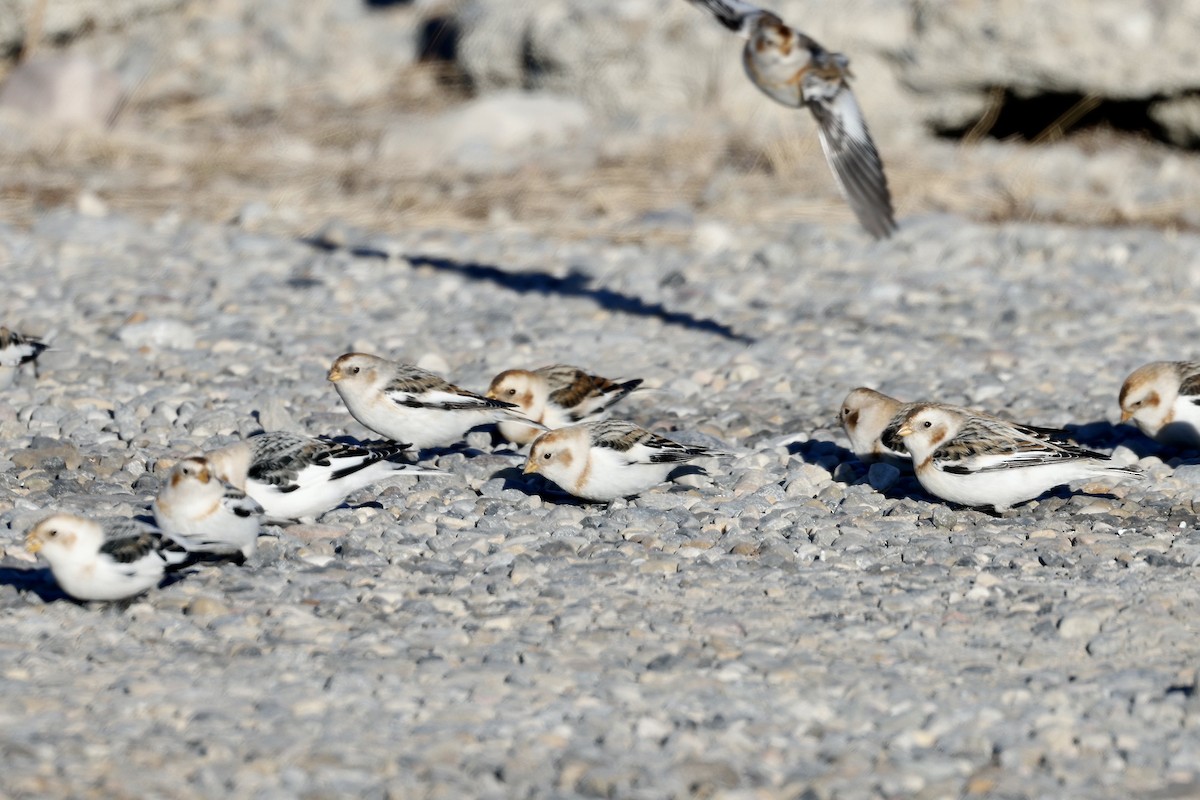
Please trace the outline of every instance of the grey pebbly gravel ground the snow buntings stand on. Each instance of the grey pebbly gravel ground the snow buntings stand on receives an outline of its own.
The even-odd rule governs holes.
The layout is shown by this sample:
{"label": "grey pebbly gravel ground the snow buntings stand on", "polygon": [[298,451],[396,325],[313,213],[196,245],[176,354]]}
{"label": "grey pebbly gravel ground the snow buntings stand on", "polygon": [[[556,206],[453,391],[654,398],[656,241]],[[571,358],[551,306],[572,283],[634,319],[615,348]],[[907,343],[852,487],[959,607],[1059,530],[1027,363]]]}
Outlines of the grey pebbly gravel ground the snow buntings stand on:
{"label": "grey pebbly gravel ground the snow buntings stand on", "polygon": [[[0,227],[5,321],[55,345],[0,398],[2,793],[1200,792],[1200,465],[1111,423],[1130,369],[1194,356],[1200,237],[641,224],[694,245]],[[246,566],[125,610],[22,557],[50,510],[145,513],[190,451],[367,435],[324,381],[348,349],[473,387],[556,361],[641,377],[659,391],[625,415],[742,455],[583,505],[476,432],[432,458],[452,475],[270,528]],[[1080,426],[1148,480],[1001,517],[932,501],[846,451],[862,384]]]}

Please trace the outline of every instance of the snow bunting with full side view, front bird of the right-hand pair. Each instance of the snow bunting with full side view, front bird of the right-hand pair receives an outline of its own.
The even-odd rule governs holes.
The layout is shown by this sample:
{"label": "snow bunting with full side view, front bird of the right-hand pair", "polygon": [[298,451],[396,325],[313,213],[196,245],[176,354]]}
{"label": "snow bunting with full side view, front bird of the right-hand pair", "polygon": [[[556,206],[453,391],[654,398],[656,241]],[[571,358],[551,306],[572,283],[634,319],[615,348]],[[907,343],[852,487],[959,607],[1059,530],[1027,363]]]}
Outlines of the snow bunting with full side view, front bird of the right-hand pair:
{"label": "snow bunting with full side view, front bird of the right-hand pair", "polygon": [[893,435],[907,447],[926,492],[966,506],[1007,511],[1072,481],[1140,475],[1037,429],[935,403],[916,403],[893,420],[883,440]]}

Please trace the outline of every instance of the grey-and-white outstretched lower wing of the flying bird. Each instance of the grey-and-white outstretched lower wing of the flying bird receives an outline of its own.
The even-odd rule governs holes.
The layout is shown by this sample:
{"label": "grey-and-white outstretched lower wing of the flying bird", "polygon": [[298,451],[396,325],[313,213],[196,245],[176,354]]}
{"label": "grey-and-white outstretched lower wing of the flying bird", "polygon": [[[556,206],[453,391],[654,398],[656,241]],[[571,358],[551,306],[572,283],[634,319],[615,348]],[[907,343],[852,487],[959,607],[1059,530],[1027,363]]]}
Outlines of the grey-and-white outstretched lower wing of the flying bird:
{"label": "grey-and-white outstretched lower wing of the flying bird", "polygon": [[846,83],[848,60],[836,53],[820,53],[826,68],[815,62],[804,74],[804,103],[817,119],[821,149],[833,176],[854,216],[876,239],[896,229],[888,178],[866,120]]}

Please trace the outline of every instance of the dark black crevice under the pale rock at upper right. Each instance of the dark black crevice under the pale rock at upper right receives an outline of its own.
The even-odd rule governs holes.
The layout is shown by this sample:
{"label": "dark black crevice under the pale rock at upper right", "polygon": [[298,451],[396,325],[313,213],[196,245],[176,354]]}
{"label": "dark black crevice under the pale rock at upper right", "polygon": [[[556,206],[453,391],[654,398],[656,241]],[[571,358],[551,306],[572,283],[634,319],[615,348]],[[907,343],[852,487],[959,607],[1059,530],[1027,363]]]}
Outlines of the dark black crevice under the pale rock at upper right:
{"label": "dark black crevice under the pale rock at upper right", "polygon": [[1109,130],[1178,146],[1181,143],[1172,140],[1152,114],[1154,104],[1162,100],[1111,100],[1075,92],[1018,95],[1012,89],[997,88],[988,109],[970,125],[935,128],[934,132],[948,139],[986,137],[1040,144],[1081,132]]}

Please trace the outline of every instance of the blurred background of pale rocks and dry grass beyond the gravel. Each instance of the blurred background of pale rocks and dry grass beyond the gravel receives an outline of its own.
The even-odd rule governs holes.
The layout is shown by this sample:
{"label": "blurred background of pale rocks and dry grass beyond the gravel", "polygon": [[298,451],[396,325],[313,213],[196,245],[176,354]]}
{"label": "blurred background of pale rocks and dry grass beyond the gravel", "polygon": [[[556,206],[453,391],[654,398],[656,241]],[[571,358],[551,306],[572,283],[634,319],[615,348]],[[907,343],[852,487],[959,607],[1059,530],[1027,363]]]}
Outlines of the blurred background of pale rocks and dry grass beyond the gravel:
{"label": "blurred background of pale rocks and dry grass beyond the gravel", "polygon": [[[1200,0],[770,6],[852,59],[901,224],[1200,227]],[[851,224],[739,50],[683,0],[0,0],[0,201],[294,235]]]}

